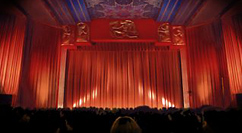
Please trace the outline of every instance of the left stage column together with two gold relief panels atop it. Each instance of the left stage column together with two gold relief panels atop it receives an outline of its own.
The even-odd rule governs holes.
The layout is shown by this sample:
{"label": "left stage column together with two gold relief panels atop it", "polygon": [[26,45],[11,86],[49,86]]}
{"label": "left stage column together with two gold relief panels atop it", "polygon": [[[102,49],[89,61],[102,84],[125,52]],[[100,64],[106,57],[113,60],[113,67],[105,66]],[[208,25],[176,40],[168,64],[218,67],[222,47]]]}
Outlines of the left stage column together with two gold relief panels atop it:
{"label": "left stage column together with two gold relief panels atop it", "polygon": [[79,22],[76,25],[62,26],[58,108],[64,107],[67,51],[68,49],[77,49],[77,46],[90,46],[89,37],[89,26],[86,23]]}

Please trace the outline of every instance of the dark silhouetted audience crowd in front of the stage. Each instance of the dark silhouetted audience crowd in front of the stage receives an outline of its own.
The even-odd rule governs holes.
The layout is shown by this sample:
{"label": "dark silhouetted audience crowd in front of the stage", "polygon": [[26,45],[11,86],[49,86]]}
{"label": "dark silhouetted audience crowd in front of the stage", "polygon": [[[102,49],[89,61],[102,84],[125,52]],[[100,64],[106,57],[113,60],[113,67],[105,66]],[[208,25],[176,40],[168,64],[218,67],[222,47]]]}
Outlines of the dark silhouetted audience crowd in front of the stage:
{"label": "dark silhouetted audience crowd in front of the stage", "polygon": [[0,133],[238,133],[241,123],[242,110],[236,108],[28,110],[0,105]]}

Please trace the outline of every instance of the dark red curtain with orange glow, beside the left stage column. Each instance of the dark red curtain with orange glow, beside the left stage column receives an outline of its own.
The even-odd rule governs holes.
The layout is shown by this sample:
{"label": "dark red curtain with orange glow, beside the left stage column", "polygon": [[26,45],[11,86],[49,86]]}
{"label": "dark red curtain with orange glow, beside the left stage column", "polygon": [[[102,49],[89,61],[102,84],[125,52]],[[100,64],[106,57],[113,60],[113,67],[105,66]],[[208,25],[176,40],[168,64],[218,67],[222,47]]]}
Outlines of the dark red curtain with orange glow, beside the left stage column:
{"label": "dark red curtain with orange glow, beside the left stage column", "polygon": [[56,107],[60,29],[28,21],[18,103],[28,108]]}

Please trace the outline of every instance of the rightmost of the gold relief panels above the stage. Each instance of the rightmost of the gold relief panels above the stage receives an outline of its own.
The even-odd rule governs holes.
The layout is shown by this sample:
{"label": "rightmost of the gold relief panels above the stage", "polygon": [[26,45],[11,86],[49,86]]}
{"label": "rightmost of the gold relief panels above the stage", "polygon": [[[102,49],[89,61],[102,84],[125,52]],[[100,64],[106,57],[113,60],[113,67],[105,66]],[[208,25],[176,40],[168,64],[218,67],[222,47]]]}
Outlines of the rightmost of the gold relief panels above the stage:
{"label": "rightmost of the gold relief panels above the stage", "polygon": [[172,39],[175,45],[185,45],[185,35],[182,26],[172,27]]}

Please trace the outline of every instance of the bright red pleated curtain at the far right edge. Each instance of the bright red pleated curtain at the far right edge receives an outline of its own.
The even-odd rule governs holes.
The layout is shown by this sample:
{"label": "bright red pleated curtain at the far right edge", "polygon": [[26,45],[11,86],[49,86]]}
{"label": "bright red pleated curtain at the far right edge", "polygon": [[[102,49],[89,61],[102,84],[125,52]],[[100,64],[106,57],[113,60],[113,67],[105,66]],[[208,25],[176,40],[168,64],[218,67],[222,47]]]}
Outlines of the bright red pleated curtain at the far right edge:
{"label": "bright red pleated curtain at the far right edge", "polygon": [[242,15],[225,19],[222,22],[229,83],[232,100],[235,101],[235,94],[242,93]]}

